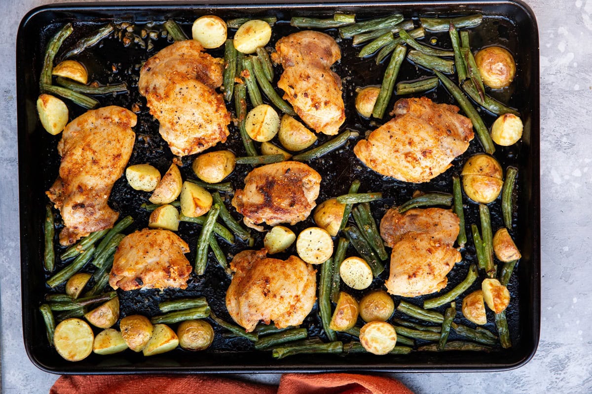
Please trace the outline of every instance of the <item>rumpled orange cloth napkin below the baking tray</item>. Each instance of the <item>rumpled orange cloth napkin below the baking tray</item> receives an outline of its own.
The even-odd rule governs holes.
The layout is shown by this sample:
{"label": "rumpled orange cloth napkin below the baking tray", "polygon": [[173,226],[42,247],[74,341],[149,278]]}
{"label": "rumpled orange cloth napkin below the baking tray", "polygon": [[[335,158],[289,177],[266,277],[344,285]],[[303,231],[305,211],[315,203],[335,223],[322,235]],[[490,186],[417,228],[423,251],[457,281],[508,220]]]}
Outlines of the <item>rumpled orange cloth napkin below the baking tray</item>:
{"label": "rumpled orange cloth napkin below the baking tray", "polygon": [[212,375],[64,375],[50,394],[413,394],[398,380],[353,373],[287,373],[279,386]]}

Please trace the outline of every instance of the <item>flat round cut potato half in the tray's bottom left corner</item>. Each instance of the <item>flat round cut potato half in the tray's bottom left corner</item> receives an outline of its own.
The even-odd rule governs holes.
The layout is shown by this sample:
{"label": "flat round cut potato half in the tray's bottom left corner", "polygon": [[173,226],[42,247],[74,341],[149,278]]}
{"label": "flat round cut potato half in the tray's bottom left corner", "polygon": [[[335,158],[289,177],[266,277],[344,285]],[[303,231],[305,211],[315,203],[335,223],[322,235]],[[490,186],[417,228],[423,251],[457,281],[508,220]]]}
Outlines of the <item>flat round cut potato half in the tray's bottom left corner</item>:
{"label": "flat round cut potato half in the tray's bottom left corner", "polygon": [[62,321],[53,333],[53,346],[68,361],[86,359],[92,353],[94,340],[91,326],[76,318]]}

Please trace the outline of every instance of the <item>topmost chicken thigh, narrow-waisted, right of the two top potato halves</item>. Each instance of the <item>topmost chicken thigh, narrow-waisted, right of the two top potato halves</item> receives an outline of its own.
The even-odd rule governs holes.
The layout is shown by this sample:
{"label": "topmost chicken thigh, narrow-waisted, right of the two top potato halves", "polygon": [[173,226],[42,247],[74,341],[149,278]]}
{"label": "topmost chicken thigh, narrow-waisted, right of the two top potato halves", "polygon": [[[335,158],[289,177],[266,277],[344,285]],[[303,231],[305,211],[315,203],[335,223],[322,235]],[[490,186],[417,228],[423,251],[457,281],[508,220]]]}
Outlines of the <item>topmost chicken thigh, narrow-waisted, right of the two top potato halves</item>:
{"label": "topmost chicken thigh, narrow-waisted, right of the two top potato halves", "polygon": [[334,135],[345,122],[341,79],[329,67],[341,58],[330,35],[300,31],[280,38],[272,54],[284,66],[278,87],[294,111],[316,132]]}

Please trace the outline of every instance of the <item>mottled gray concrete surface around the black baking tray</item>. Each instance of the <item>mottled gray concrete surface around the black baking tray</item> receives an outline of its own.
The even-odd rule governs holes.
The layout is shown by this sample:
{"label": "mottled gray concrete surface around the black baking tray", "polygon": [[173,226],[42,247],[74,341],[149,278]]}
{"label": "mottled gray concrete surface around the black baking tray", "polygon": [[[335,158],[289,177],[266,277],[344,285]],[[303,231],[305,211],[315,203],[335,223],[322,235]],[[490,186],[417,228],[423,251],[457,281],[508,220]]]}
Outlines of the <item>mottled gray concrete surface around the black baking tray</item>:
{"label": "mottled gray concrete surface around the black baking tray", "polygon": [[[0,288],[2,388],[47,393],[22,343],[17,191],[15,35],[22,16],[51,0],[2,0],[0,24]],[[592,0],[530,0],[540,31],[542,327],[526,366],[503,373],[397,374],[417,393],[592,392]],[[278,375],[244,376],[277,382]]]}

